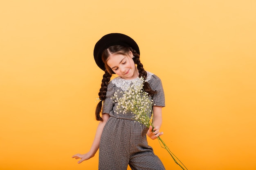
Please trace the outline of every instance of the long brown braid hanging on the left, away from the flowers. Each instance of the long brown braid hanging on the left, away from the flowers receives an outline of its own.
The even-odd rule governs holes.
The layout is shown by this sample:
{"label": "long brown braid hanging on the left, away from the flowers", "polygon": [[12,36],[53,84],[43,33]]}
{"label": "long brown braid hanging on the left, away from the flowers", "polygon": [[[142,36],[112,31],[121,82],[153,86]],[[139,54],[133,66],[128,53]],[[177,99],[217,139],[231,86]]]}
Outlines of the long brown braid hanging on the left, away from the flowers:
{"label": "long brown braid hanging on the left, away from the flowers", "polygon": [[110,81],[111,76],[112,75],[109,74],[107,70],[105,70],[105,74],[103,74],[103,78],[102,78],[102,81],[101,81],[102,82],[101,83],[101,88],[99,89],[100,102],[98,103],[98,105],[96,107],[96,111],[95,111],[96,120],[102,120],[102,118],[100,116],[101,108],[102,108],[102,101],[106,99],[108,83]]}

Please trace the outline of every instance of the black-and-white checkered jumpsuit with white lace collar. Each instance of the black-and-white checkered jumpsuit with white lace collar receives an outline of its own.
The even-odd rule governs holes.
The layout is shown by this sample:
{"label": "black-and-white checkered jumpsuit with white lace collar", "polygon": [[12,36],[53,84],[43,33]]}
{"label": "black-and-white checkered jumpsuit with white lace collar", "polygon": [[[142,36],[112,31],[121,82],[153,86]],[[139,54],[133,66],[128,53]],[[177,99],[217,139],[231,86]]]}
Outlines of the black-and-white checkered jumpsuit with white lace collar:
{"label": "black-and-white checkered jumpsuit with white lace collar", "polygon": [[[147,72],[147,81],[153,90],[157,91],[152,99],[156,106],[165,106],[164,91],[161,80]],[[165,170],[160,159],[148,146],[146,133],[148,128],[132,120],[132,113],[118,113],[117,103],[112,96],[117,90],[125,91],[134,80],[114,78],[108,85],[106,99],[103,101],[102,113],[108,113],[110,118],[103,129],[99,146],[99,170],[127,170],[128,164],[132,170]],[[148,111],[151,116],[151,110]]]}

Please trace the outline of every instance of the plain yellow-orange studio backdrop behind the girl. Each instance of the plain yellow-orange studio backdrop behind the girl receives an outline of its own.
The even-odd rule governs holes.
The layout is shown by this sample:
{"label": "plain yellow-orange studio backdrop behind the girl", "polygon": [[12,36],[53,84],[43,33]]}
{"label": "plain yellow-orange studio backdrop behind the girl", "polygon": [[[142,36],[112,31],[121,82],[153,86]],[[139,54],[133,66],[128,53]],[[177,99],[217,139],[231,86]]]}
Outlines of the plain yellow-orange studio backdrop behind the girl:
{"label": "plain yellow-orange studio backdrop behind the girl", "polygon": [[[135,39],[166,94],[162,139],[189,170],[256,169],[256,1],[0,2],[0,169],[96,170],[107,33]],[[166,170],[180,170],[150,140]],[[98,154],[98,153],[97,153]]]}

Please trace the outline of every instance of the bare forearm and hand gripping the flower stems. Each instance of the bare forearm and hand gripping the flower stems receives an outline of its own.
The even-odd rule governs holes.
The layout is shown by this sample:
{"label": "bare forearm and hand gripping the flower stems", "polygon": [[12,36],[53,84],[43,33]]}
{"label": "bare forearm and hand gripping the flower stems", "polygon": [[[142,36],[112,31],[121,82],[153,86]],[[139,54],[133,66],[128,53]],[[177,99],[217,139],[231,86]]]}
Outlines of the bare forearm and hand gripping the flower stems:
{"label": "bare forearm and hand gripping the flower stems", "polygon": [[162,125],[162,107],[153,106],[153,126],[154,132],[152,131],[152,126],[148,129],[148,137],[151,139],[156,139],[158,136],[163,135],[163,132],[160,132],[159,129]]}

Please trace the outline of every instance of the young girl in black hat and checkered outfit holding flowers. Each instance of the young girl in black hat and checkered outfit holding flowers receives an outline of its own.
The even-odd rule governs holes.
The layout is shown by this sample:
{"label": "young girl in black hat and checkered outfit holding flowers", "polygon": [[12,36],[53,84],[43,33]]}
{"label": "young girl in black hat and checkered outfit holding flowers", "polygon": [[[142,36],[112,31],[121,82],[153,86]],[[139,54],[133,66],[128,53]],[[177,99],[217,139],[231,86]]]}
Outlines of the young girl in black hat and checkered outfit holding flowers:
{"label": "young girl in black hat and checkered outfit holding flowers", "polygon": [[[139,54],[136,42],[124,34],[105,35],[95,45],[94,59],[105,71],[96,109],[96,119],[100,122],[90,151],[72,156],[80,159],[78,163],[92,158],[99,149],[99,170],[127,170],[128,164],[132,170],[165,170],[146,139],[146,134],[151,139],[163,134],[159,129],[165,106],[164,91],[161,80],[144,70]],[[118,77],[110,81],[112,74]],[[134,121],[132,113],[118,113],[117,102],[112,98],[114,93],[126,91],[141,76],[146,80],[144,91],[154,101],[154,131],[152,126],[148,129]]]}

